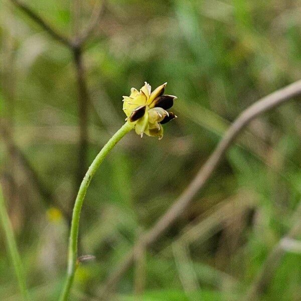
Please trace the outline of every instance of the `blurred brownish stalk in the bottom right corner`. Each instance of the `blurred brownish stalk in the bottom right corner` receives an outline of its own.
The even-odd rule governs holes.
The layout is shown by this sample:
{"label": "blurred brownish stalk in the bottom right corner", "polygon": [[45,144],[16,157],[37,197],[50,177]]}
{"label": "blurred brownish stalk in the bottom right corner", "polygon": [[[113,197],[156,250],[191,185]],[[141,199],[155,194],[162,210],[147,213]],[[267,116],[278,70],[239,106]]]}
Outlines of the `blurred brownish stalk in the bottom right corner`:
{"label": "blurred brownish stalk in the bottom right corner", "polygon": [[295,220],[293,226],[288,231],[288,233],[279,240],[279,242],[273,247],[271,252],[268,254],[265,262],[261,267],[260,272],[255,277],[254,282],[252,283],[252,285],[246,293],[246,296],[244,298],[245,301],[256,300],[258,296],[266,290],[278,265],[280,264],[283,255],[286,253],[285,249],[283,248],[283,244],[286,240],[295,239],[301,232],[300,213],[301,204],[299,205],[298,209],[296,210],[293,216],[293,220]]}

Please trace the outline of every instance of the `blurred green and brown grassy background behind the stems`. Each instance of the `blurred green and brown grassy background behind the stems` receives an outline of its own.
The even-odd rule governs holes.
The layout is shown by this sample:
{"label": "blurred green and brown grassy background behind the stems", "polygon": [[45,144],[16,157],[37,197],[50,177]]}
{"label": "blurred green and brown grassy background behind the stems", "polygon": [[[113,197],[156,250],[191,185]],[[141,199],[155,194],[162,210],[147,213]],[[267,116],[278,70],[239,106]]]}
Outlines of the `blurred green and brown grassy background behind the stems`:
{"label": "blurred green and brown grassy background behind the stems", "polygon": [[[86,28],[99,5],[25,3],[68,37]],[[98,299],[107,276],[189,185],[243,109],[301,78],[299,0],[101,5],[82,52],[88,118],[80,160],[83,107],[72,52],[11,1],[0,3],[1,183],[37,300],[57,299],[81,165],[124,122],[121,100],[131,87],[167,81],[166,92],[178,96],[178,118],[165,125],[161,141],[129,133],[95,175],[79,254],[96,259],[79,266],[72,300]],[[251,122],[205,189],[123,274],[112,299],[241,299],[300,219],[300,116],[295,99]],[[0,299],[19,300],[0,230]],[[260,299],[301,299],[300,243],[284,242],[281,258],[268,262]]]}

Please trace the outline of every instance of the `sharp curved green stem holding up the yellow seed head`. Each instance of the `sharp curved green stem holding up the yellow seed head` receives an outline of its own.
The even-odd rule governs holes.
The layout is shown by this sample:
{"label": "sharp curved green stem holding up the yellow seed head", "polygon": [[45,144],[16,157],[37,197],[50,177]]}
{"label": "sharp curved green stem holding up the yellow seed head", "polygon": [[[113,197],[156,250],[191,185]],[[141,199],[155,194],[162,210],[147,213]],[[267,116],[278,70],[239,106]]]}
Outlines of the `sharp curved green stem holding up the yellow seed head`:
{"label": "sharp curved green stem holding up the yellow seed head", "polygon": [[109,141],[103,146],[99,154],[96,156],[92,164],[90,165],[77,193],[75,200],[72,221],[71,221],[71,232],[69,237],[69,254],[68,254],[68,268],[67,268],[67,278],[60,297],[61,301],[68,299],[69,292],[73,283],[76,260],[77,260],[77,238],[78,238],[78,226],[79,226],[79,216],[83,201],[86,195],[87,188],[93,178],[98,167],[108,155],[110,150],[115,146],[115,144],[131,129],[133,128],[128,122],[123,124],[121,128],[109,139]]}

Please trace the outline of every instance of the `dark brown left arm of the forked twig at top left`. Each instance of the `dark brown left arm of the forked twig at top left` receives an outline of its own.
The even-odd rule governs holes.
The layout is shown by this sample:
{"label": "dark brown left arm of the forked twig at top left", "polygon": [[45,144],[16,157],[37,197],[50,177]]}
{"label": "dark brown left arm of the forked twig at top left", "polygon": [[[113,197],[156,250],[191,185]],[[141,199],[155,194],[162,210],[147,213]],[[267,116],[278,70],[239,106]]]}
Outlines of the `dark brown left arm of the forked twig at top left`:
{"label": "dark brown left arm of the forked twig at top left", "polygon": [[55,40],[61,42],[68,48],[72,49],[74,47],[72,41],[64,37],[63,34],[57,32],[52,28],[41,16],[36,14],[30,7],[22,3],[19,0],[10,0],[14,5],[16,5],[21,11],[23,11],[27,16],[39,24],[49,35],[51,35]]}

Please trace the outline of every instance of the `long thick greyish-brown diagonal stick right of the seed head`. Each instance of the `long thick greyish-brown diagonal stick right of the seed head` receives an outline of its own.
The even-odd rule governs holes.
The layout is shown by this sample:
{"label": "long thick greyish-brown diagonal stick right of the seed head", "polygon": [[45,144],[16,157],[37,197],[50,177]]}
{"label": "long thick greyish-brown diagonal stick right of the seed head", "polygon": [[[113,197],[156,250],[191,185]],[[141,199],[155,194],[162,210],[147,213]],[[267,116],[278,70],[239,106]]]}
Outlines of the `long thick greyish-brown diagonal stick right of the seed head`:
{"label": "long thick greyish-brown diagonal stick right of the seed head", "polygon": [[113,289],[122,274],[130,267],[135,258],[136,250],[139,249],[141,245],[147,247],[156,241],[156,239],[184,212],[198,191],[205,186],[210,176],[224,158],[227,149],[231,146],[233,140],[244,129],[244,127],[258,115],[300,94],[301,80],[263,97],[238,116],[238,118],[229,127],[207,162],[200,169],[186,190],[176,200],[174,205],[159,219],[154,227],[141,236],[133,249],[126,255],[125,259],[118,264],[118,268],[109,275],[102,288],[102,297],[106,296],[107,293]]}

